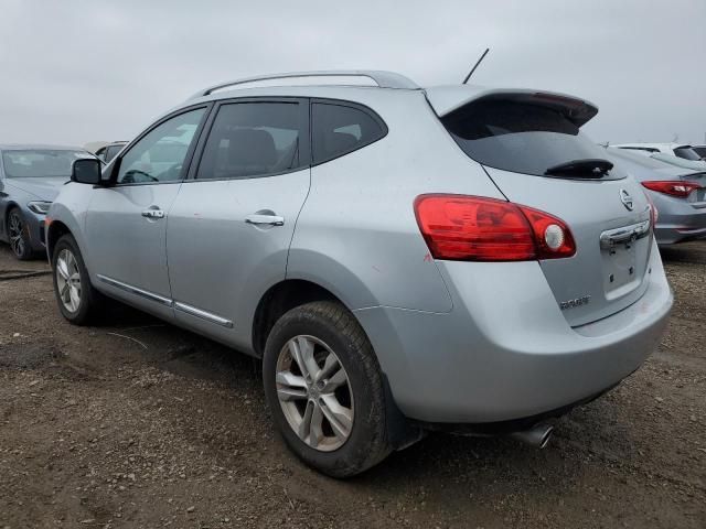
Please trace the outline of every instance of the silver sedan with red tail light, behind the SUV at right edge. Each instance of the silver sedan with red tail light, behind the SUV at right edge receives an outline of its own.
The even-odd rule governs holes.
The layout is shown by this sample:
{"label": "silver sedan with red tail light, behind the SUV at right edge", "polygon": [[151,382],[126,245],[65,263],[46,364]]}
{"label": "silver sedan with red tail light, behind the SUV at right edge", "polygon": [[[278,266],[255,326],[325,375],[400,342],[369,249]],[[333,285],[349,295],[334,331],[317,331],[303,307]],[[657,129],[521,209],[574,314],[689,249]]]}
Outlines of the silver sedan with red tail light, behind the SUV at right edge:
{"label": "silver sedan with red tail light, behind the SUV at right edge", "polygon": [[656,206],[654,234],[660,246],[706,237],[706,171],[623,149],[608,148],[607,154],[642,184]]}

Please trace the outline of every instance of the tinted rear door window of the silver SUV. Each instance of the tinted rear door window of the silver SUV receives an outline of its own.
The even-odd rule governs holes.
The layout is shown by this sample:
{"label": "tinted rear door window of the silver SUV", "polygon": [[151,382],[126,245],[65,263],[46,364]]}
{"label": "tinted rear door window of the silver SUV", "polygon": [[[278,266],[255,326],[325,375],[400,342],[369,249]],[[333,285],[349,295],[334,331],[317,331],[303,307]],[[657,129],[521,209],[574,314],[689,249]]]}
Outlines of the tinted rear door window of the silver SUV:
{"label": "tinted rear door window of the silver SUV", "polygon": [[222,105],[196,179],[242,179],[295,170],[302,163],[303,129],[298,102]]}

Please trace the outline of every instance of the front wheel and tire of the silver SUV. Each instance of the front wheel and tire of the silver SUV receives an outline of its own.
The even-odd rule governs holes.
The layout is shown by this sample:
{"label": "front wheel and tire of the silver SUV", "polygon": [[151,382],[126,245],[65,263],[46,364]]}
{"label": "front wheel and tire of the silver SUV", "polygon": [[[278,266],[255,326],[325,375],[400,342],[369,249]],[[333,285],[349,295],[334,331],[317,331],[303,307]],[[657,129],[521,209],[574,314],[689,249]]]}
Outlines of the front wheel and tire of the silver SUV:
{"label": "front wheel and tire of the silver SUV", "polygon": [[58,310],[68,322],[88,325],[99,319],[104,296],[93,288],[78,245],[71,235],[62,236],[54,245],[52,277]]}

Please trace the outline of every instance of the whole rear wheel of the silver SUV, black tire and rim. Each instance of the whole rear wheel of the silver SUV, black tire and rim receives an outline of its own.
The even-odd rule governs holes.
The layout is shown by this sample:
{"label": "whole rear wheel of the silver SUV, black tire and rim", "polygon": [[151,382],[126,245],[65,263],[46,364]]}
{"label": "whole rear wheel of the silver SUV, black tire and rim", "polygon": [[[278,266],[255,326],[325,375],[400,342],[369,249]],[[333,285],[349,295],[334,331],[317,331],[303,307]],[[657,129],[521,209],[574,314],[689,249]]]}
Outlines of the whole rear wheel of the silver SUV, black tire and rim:
{"label": "whole rear wheel of the silver SUV, black tire and rim", "polygon": [[339,303],[307,303],[286,313],[267,339],[263,378],[277,428],[308,465],[350,477],[389,454],[377,358]]}

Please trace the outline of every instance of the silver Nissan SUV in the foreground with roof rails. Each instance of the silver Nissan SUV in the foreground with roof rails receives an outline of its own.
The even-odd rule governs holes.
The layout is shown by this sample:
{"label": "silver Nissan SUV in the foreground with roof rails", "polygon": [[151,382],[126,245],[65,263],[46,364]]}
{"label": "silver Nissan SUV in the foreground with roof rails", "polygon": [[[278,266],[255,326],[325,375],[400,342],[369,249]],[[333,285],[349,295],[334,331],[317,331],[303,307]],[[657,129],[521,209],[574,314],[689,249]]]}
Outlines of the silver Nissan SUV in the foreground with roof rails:
{"label": "silver Nissan SUV in the foreground with roof rails", "polygon": [[205,89],[103,172],[74,163],[58,307],[114,298],[261,358],[285,441],[332,476],[428,429],[544,445],[672,306],[644,193],[579,132],[596,114],[385,72]]}

